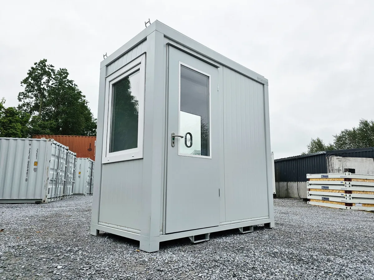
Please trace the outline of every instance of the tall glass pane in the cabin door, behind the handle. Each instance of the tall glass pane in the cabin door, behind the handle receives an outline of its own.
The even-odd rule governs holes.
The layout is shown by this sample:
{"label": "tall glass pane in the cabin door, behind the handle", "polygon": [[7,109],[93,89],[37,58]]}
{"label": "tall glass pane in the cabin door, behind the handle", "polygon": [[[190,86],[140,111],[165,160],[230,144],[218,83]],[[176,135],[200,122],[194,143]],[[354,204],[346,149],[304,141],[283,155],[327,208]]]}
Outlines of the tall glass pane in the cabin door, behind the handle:
{"label": "tall glass pane in the cabin door, behind the handle", "polygon": [[209,156],[209,77],[181,65],[179,151],[184,155]]}

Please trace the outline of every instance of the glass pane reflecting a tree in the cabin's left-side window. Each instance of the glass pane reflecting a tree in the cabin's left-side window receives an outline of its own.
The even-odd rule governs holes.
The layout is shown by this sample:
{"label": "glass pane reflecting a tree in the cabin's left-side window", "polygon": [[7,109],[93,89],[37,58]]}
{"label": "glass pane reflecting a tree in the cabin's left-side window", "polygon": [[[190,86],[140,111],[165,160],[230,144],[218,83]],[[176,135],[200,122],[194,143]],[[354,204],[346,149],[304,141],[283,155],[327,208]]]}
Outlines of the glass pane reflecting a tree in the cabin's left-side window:
{"label": "glass pane reflecting a tree in the cabin's left-side window", "polygon": [[113,84],[109,152],[138,147],[140,71]]}

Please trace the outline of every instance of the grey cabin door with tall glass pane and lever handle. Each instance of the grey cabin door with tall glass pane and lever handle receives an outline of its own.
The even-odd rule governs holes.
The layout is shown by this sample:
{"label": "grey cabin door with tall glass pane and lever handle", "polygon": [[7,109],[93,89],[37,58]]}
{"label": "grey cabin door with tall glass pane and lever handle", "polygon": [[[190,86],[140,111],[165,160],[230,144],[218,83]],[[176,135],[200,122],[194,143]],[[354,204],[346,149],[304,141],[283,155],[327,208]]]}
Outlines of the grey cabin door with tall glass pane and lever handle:
{"label": "grey cabin door with tall glass pane and lever handle", "polygon": [[215,66],[169,47],[166,233],[220,224],[218,79]]}

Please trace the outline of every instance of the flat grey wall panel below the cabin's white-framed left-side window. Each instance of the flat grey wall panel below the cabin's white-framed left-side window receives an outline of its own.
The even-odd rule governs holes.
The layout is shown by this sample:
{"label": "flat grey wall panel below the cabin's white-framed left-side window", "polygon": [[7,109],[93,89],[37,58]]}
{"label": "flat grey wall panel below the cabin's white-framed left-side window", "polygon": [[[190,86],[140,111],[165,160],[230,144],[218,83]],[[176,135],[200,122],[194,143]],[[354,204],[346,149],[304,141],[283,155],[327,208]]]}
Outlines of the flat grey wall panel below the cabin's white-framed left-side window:
{"label": "flat grey wall panel below the cabin's white-framed left-side window", "polygon": [[99,223],[140,230],[143,160],[102,165]]}

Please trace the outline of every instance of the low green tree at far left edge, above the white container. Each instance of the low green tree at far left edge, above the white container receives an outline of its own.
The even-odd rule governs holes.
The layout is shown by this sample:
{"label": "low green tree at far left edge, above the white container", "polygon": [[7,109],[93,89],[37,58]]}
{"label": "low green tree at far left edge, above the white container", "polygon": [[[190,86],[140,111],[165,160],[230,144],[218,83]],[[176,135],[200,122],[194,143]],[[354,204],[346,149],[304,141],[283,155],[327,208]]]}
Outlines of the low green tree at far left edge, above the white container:
{"label": "low green tree at far left edge, above the white container", "polygon": [[5,108],[5,99],[0,101],[0,137],[28,137],[30,115],[14,107]]}

